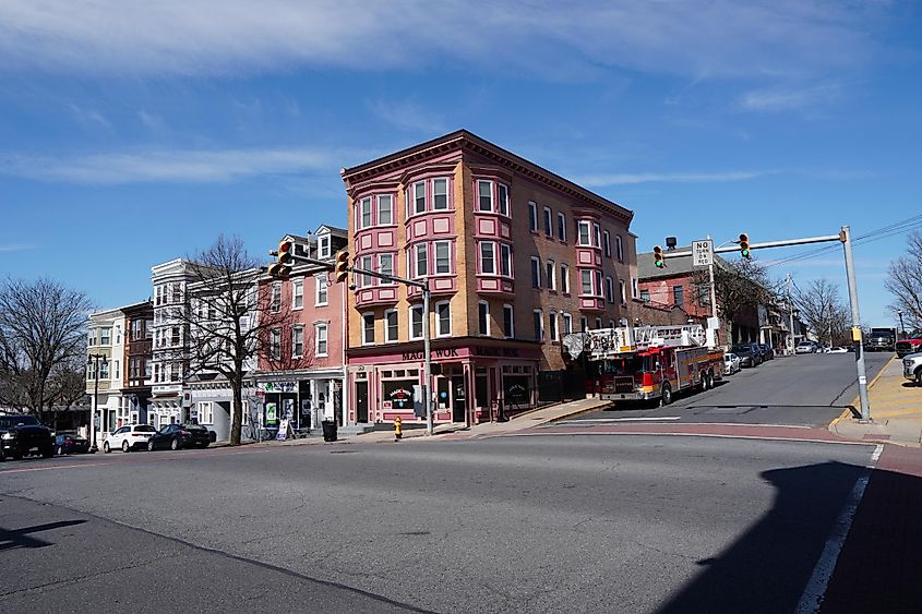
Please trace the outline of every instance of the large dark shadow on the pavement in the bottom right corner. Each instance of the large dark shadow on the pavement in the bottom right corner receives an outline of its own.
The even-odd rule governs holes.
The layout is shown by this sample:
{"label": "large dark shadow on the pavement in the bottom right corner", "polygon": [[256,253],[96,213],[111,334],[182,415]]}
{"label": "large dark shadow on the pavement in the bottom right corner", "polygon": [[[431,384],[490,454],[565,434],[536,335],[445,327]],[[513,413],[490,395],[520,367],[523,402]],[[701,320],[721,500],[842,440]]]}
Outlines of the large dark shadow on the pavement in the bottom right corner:
{"label": "large dark shadow on the pavement in the bottom right corner", "polygon": [[[795,612],[855,482],[861,478],[866,478],[869,473],[870,470],[865,467],[840,462],[777,469],[762,473],[762,477],[777,489],[771,510],[728,550],[714,558],[695,562],[703,570],[674,593],[658,612],[661,614]],[[824,487],[817,489],[816,484],[824,484]],[[873,503],[875,498],[886,497],[886,493],[889,492],[922,493],[922,485],[920,485],[922,480],[890,471],[874,471],[871,484],[876,484],[876,489],[869,485],[849,533],[848,544],[852,541],[858,544],[862,539],[860,535],[870,530],[869,526],[882,522],[881,518],[869,521],[866,514],[862,520],[862,510],[873,508],[876,505]],[[829,496],[830,492],[835,494]],[[897,526],[912,523],[914,516],[909,516],[909,510],[902,509],[900,513],[903,517],[896,520]],[[862,521],[859,522],[859,520]],[[910,544],[906,543],[901,537],[897,538],[895,531],[891,530],[890,533],[889,541],[894,543],[886,543],[888,540],[884,539],[874,547],[893,546],[900,550],[914,547],[914,552],[920,552],[917,546],[920,545],[922,539],[909,540],[912,542]],[[922,537],[922,531],[917,529],[915,535]],[[842,556],[839,557],[839,567],[853,566],[854,559],[864,556],[865,553],[859,552],[863,550],[863,546],[869,546],[869,544],[861,544],[851,550],[847,545],[842,551]],[[914,556],[918,563],[922,564],[920,559],[922,553]],[[903,580],[921,586],[914,576],[909,578],[909,575],[920,569],[922,567],[915,566],[913,569],[906,570],[907,576]],[[857,571],[858,569],[854,570]],[[838,567],[836,573],[840,574]],[[830,589],[837,591],[836,602],[848,604],[849,607],[839,609],[828,603],[823,609],[824,614],[903,611],[899,607],[887,607],[881,602],[876,607],[871,604],[857,607],[852,593],[859,578],[852,576],[852,573],[851,570],[842,571],[841,577],[834,576],[834,581],[830,582]],[[922,597],[922,589],[917,589],[917,592],[920,593],[919,597]],[[922,601],[917,598],[914,604],[914,612],[922,612]]]}

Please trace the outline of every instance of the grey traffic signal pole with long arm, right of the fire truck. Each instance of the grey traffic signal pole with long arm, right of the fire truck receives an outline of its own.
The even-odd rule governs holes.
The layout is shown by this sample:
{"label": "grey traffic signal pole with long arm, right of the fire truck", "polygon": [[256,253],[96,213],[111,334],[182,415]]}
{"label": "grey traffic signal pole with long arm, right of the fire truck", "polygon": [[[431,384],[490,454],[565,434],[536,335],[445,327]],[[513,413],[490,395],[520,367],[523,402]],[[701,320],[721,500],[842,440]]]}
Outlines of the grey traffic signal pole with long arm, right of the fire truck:
{"label": "grey traffic signal pole with long arm, right of the fire truck", "polygon": [[[740,238],[745,237],[749,241],[749,234],[741,234]],[[848,226],[842,226],[838,234],[826,234],[822,237],[807,237],[804,239],[786,239],[783,241],[767,241],[765,243],[752,243],[746,246],[749,250],[765,250],[770,248],[788,248],[791,245],[807,245],[811,243],[830,243],[839,241],[842,243],[846,256],[846,278],[849,287],[849,303],[851,304],[851,335],[855,351],[855,370],[858,371],[858,398],[861,404],[861,420],[863,422],[871,421],[871,404],[867,399],[867,372],[864,368],[864,344],[861,335],[861,314],[858,306],[858,282],[854,275],[854,258],[852,256],[851,245],[851,230]],[[658,248],[658,246],[657,246]],[[654,261],[662,263],[666,266],[664,260],[691,256],[692,252],[662,252],[661,249],[654,248]],[[740,246],[715,248],[714,253],[739,252]],[[746,253],[744,257],[749,257]],[[660,266],[657,264],[657,266]],[[714,284],[711,282],[711,287]]]}

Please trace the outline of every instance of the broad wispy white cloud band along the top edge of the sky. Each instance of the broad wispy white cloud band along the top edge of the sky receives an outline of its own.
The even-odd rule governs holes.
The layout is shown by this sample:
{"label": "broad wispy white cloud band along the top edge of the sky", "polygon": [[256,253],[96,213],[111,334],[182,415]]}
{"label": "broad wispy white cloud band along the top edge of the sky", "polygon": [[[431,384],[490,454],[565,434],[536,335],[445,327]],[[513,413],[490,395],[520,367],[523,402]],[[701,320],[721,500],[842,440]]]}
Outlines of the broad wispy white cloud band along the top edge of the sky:
{"label": "broad wispy white cloud band along the top edge of the sky", "polygon": [[599,67],[804,76],[873,58],[875,17],[890,10],[826,0],[4,0],[0,70],[236,75],[447,58],[556,76]]}

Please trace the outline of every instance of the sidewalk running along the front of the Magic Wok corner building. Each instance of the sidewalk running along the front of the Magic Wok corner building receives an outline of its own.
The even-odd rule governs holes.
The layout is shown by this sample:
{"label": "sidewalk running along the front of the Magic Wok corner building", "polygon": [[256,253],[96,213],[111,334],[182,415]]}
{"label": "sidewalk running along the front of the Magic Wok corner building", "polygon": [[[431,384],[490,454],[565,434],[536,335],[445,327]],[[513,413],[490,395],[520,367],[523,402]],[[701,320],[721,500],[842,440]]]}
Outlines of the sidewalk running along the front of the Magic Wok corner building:
{"label": "sidewalk running along the front of the Magic Wok corner building", "polygon": [[[439,440],[469,440],[474,437],[495,437],[510,435],[541,424],[558,422],[580,413],[596,411],[610,405],[611,401],[601,399],[579,399],[562,402],[520,413],[506,422],[483,422],[470,428],[464,424],[440,424],[434,429],[434,437]],[[404,440],[422,437],[426,429],[405,429]],[[373,431],[355,437],[357,442],[393,442],[394,431]]]}

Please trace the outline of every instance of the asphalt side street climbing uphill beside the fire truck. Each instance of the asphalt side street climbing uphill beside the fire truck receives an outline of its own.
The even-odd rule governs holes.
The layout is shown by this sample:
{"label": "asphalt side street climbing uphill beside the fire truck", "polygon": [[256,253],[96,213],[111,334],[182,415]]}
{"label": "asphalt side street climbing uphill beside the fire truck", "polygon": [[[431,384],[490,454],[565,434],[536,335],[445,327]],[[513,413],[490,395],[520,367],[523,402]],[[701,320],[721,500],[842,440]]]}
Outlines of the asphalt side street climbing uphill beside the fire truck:
{"label": "asphalt side street climbing uphill beside the fire truck", "polygon": [[[893,356],[865,354],[869,382]],[[725,377],[706,393],[676,396],[668,407],[619,406],[575,417],[571,423],[648,420],[825,426],[854,401],[857,382],[853,353],[776,358]]]}

